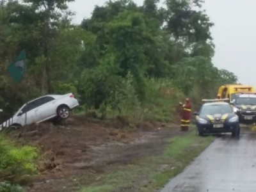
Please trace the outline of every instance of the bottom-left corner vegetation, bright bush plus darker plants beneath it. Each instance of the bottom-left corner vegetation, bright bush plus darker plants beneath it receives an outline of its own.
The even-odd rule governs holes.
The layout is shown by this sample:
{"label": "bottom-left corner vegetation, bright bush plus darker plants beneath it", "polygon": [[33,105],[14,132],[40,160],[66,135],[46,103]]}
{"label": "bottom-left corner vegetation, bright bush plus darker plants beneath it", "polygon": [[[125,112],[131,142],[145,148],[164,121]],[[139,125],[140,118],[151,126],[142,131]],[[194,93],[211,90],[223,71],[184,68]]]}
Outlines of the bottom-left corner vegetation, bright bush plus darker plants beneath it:
{"label": "bottom-left corner vegetation, bright bush plus darker plants beneath it", "polygon": [[20,146],[0,135],[0,191],[22,192],[24,189],[12,183],[21,183],[37,173],[38,149]]}

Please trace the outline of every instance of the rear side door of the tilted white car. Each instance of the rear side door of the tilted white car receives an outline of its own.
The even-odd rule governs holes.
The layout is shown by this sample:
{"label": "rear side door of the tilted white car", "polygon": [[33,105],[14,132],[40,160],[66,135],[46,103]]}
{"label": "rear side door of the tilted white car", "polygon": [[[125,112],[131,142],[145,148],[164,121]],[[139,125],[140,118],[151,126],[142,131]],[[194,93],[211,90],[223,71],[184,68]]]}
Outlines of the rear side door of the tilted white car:
{"label": "rear side door of the tilted white car", "polygon": [[54,98],[49,96],[42,97],[40,100],[38,100],[39,103],[35,109],[36,122],[40,122],[56,113],[55,110],[52,109],[51,101],[53,100]]}

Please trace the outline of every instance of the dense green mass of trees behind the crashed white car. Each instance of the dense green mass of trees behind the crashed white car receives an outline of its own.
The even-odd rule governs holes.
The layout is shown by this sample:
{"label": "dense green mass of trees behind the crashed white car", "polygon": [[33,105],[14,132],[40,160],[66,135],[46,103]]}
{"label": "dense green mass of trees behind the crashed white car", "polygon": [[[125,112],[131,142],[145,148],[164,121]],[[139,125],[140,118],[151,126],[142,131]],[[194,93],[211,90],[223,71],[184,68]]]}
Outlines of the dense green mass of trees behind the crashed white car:
{"label": "dense green mass of trees behind the crashed white car", "polygon": [[[220,84],[237,81],[212,65],[213,24],[200,0],[167,0],[165,8],[108,1],[78,26],[70,1],[0,1],[1,118],[38,95],[73,92],[102,117],[168,120],[182,95],[215,97]],[[16,84],[6,67],[21,49],[28,70]]]}

